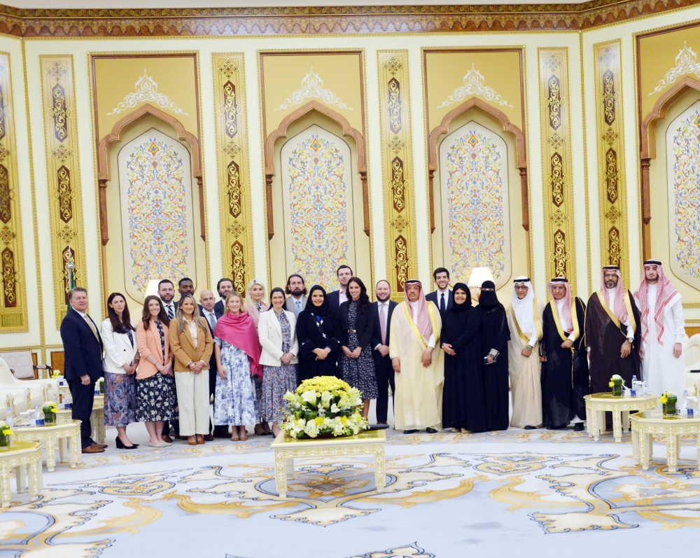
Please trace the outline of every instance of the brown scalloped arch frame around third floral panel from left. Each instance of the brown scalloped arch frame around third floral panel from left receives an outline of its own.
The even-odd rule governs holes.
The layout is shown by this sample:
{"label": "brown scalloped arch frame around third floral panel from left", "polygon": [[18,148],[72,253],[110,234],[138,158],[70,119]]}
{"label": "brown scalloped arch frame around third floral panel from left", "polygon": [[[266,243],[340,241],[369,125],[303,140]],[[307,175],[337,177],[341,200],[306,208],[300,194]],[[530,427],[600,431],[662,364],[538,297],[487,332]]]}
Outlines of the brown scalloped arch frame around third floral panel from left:
{"label": "brown scalloped arch frame around third floral panel from left", "polygon": [[517,168],[520,172],[520,188],[522,197],[522,225],[526,231],[530,230],[530,211],[529,211],[529,199],[528,199],[528,187],[527,187],[527,157],[526,157],[526,146],[525,146],[525,136],[519,127],[510,122],[510,119],[505,116],[503,111],[499,111],[495,106],[472,97],[468,101],[463,102],[461,105],[457,106],[455,109],[449,111],[439,126],[430,132],[428,136],[428,193],[430,196],[430,234],[435,232],[435,194],[433,193],[433,181],[435,179],[435,171],[437,170],[437,165],[439,164],[439,157],[437,153],[437,148],[439,145],[439,139],[444,134],[447,134],[449,130],[449,125],[452,120],[465,113],[466,111],[477,108],[485,113],[489,114],[493,118],[496,118],[502,127],[504,132],[510,132],[515,137],[516,145],[516,161]]}

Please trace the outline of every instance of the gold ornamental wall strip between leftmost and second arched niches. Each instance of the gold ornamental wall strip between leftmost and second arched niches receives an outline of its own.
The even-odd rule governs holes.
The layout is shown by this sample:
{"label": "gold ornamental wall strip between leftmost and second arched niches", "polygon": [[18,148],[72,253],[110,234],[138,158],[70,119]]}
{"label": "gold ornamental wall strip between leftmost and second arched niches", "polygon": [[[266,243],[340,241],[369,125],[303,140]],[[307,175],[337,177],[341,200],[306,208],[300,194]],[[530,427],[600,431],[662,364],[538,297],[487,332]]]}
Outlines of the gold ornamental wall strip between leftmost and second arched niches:
{"label": "gold ornamental wall strip between leftmost and second arched niches", "polygon": [[224,271],[246,292],[253,270],[243,54],[214,54],[216,153]]}

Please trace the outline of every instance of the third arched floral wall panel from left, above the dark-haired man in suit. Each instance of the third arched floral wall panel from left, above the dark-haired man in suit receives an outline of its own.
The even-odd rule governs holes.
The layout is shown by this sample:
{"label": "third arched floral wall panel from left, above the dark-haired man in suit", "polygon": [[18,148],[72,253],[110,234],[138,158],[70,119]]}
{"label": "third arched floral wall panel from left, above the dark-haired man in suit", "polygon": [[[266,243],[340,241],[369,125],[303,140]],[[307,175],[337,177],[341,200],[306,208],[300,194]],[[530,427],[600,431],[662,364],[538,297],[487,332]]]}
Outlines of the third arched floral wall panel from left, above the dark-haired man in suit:
{"label": "third arched floral wall panel from left, above the dark-haired man in suit", "polygon": [[449,146],[447,195],[452,272],[466,281],[474,267],[505,270],[503,155],[488,137],[468,130]]}

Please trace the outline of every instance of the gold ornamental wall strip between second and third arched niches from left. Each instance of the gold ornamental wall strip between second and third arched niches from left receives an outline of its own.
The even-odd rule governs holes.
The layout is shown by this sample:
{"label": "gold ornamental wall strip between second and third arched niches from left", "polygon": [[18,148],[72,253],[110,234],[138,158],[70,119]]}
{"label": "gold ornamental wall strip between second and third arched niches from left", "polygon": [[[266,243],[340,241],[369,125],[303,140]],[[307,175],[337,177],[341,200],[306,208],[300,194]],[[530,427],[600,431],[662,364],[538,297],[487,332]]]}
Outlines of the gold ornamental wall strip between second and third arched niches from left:
{"label": "gold ornamental wall strip between second and third arched niches from left", "polygon": [[377,60],[387,279],[391,284],[392,298],[400,302],[405,282],[415,277],[417,270],[408,51],[380,50]]}

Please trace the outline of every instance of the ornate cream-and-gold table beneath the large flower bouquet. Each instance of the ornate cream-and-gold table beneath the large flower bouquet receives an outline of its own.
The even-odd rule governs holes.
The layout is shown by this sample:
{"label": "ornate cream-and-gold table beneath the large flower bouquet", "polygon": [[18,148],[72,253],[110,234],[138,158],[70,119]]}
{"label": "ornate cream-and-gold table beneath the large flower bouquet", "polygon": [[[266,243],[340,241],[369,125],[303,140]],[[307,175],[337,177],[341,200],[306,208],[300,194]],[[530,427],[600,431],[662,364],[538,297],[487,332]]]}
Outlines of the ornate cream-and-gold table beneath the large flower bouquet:
{"label": "ornate cream-and-gold table beneath the large flower bouquet", "polygon": [[287,497],[287,482],[294,477],[294,459],[297,457],[372,455],[374,456],[374,485],[377,487],[377,492],[383,492],[386,486],[385,444],[386,436],[383,430],[366,431],[356,436],[342,438],[313,438],[310,440],[297,440],[282,431],[272,442],[274,480],[277,483],[279,497]]}

